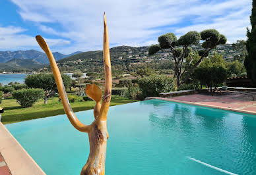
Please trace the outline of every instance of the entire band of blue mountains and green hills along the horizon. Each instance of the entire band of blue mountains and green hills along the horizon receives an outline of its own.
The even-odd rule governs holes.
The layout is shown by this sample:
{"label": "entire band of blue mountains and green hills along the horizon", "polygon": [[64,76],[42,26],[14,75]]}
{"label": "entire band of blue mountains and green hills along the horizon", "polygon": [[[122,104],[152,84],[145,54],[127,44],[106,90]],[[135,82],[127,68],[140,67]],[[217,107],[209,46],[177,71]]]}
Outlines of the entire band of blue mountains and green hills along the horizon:
{"label": "entire band of blue mountains and green hills along the horizon", "polygon": [[[197,51],[202,49],[201,44],[192,45],[192,49]],[[214,51],[223,55],[225,61],[234,61],[236,55],[241,55],[240,51],[235,51],[232,45],[218,45]],[[212,54],[211,51],[210,54]],[[76,69],[102,67],[102,51],[75,52],[64,55],[59,52],[53,53],[59,68],[72,71]],[[110,49],[110,57],[113,66],[126,66],[134,68],[143,63],[160,63],[172,60],[172,54],[168,50],[158,51],[154,55],[148,55],[148,47],[117,46]],[[35,50],[28,51],[5,51],[0,52],[0,71],[12,72],[16,70],[39,70],[49,68],[49,61],[45,53]]]}

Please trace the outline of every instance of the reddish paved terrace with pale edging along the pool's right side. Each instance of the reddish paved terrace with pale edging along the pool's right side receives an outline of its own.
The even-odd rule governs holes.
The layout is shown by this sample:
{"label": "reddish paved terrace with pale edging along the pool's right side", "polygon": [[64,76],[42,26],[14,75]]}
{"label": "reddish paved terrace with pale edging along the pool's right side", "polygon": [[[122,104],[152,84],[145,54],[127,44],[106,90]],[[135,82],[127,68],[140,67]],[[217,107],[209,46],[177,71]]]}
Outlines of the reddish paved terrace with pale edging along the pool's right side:
{"label": "reddish paved terrace with pale edging along the pool's right side", "polygon": [[192,95],[181,95],[177,97],[149,97],[148,99],[162,99],[166,101],[175,101],[190,105],[199,105],[203,107],[212,107],[215,109],[224,109],[256,115],[256,101],[252,101],[253,99],[249,95],[238,93],[224,93],[222,95],[214,96],[210,94],[195,93]]}

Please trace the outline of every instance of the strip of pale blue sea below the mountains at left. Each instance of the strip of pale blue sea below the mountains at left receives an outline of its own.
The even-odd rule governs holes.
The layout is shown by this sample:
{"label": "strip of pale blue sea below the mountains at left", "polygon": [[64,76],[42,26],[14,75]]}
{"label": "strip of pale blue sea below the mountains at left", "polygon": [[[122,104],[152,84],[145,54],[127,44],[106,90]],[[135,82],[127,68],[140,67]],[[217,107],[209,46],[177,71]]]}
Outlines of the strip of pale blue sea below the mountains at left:
{"label": "strip of pale blue sea below the mountains at left", "polygon": [[[11,82],[24,83],[24,80],[28,74],[0,74],[0,83],[2,85],[9,84]],[[72,76],[72,73],[67,73],[67,75]],[[84,73],[84,77],[86,73]]]}

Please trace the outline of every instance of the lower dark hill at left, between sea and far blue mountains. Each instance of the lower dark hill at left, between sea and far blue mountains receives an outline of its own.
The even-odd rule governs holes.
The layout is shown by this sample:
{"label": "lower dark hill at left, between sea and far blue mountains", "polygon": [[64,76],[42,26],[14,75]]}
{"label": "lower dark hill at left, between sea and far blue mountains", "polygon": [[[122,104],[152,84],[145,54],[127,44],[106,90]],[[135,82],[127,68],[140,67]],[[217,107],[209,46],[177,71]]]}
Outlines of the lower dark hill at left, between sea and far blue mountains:
{"label": "lower dark hill at left, between sea and far blue mountains", "polygon": [[7,63],[0,63],[0,70],[12,71],[19,69],[32,69],[39,68],[42,65],[42,63],[39,63],[35,59],[12,59],[7,61]]}

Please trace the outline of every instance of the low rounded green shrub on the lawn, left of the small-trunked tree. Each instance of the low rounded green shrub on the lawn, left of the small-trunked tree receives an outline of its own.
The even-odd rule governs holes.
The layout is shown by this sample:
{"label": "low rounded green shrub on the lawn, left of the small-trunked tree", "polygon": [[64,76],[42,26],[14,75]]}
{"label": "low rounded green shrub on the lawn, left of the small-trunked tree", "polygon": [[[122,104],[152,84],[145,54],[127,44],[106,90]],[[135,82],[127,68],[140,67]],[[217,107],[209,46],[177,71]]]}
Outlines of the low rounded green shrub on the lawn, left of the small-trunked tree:
{"label": "low rounded green shrub on the lawn, left of the small-trunked tree", "polygon": [[13,91],[13,97],[22,107],[32,107],[38,99],[44,97],[44,89],[20,89]]}

